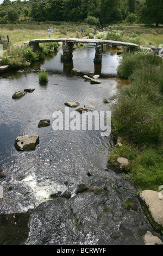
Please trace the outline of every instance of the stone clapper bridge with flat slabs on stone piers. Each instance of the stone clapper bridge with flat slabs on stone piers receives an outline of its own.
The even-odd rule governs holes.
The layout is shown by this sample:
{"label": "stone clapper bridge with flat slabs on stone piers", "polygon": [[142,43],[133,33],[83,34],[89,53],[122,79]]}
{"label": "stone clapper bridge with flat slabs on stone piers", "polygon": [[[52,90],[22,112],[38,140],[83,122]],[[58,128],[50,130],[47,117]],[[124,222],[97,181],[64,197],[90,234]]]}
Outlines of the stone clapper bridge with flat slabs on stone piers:
{"label": "stone clapper bridge with flat slabs on stone piers", "polygon": [[75,43],[83,43],[83,44],[96,44],[96,52],[95,52],[95,63],[102,62],[102,51],[103,45],[110,45],[112,47],[116,46],[127,46],[130,48],[138,47],[138,45],[133,44],[131,42],[120,42],[120,41],[112,41],[112,40],[102,40],[102,39],[79,39],[79,38],[58,38],[58,39],[34,39],[29,41],[29,46],[33,48],[33,51],[36,51],[39,48],[39,44],[43,42],[62,42],[63,48],[63,56],[62,60],[65,62],[71,62],[73,58],[73,44]]}

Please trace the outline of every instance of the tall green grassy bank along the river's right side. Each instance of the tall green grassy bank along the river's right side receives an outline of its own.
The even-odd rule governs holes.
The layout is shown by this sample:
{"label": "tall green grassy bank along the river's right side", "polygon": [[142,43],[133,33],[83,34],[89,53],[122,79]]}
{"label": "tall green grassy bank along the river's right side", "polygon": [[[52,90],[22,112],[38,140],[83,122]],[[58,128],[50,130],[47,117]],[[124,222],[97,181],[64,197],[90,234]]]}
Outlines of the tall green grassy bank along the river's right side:
{"label": "tall green grassy bank along the river's right side", "polygon": [[158,190],[163,184],[163,68],[162,58],[149,51],[124,53],[118,74],[130,85],[119,89],[112,105],[112,127],[121,137],[109,161],[126,157],[128,176],[141,189]]}

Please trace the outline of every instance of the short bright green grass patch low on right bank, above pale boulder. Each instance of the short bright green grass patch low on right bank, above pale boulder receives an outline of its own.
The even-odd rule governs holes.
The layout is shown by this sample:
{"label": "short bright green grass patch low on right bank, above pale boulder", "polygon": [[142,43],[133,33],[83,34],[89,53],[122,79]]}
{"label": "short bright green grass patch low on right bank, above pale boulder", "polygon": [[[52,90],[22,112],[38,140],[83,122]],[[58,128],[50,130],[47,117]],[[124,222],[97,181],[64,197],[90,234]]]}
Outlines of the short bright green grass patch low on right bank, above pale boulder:
{"label": "short bright green grass patch low on right bank, above pale boulder", "polygon": [[109,161],[117,167],[117,157],[129,160],[127,176],[134,181],[140,190],[158,191],[163,184],[163,150],[159,148],[139,149],[123,143],[109,154]]}

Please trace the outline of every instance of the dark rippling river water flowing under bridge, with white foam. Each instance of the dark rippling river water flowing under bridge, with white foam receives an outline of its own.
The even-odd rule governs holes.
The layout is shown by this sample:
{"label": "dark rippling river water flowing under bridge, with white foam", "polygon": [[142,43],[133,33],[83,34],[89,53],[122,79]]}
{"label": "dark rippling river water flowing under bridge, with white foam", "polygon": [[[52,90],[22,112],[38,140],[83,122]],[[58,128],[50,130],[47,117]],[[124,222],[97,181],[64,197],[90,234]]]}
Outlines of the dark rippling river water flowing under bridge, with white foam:
{"label": "dark rippling river water flowing under bridge, with white foam", "polygon": [[[0,214],[30,212],[26,245],[143,245],[143,234],[153,231],[143,214],[136,188],[124,173],[110,167],[110,137],[100,131],[54,131],[53,113],[65,112],[66,101],[108,111],[105,97],[116,95],[126,80],[117,78],[116,50],[103,50],[102,65],[94,65],[95,45],[73,51],[73,63],[62,63],[62,48],[33,69],[13,71],[0,80]],[[40,84],[37,69],[46,68],[49,81]],[[90,84],[70,74],[72,68],[99,74],[101,84]],[[35,88],[19,100],[18,90]],[[74,109],[72,109],[74,110]],[[38,128],[41,119],[51,126]],[[34,151],[18,152],[18,135],[39,135]],[[92,176],[87,172],[91,170]],[[85,191],[77,193],[78,185]],[[81,185],[80,185],[81,186]],[[124,202],[134,202],[126,209]]]}

